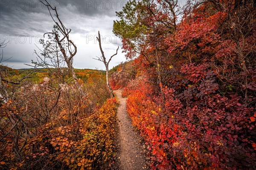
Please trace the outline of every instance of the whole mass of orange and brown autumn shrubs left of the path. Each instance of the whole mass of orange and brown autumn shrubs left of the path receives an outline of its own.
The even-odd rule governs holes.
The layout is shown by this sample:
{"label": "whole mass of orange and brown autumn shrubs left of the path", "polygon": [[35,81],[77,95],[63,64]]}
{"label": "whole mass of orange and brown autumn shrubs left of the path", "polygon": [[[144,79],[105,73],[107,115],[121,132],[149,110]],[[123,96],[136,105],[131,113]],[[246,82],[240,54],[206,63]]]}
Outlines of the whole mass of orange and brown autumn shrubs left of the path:
{"label": "whole mass of orange and brown autumn shrubs left of the path", "polygon": [[[40,84],[22,86],[12,99],[2,102],[0,167],[110,169],[116,99],[96,102],[84,88],[56,86],[55,79],[44,78]],[[104,92],[100,95],[102,100],[108,97]]]}

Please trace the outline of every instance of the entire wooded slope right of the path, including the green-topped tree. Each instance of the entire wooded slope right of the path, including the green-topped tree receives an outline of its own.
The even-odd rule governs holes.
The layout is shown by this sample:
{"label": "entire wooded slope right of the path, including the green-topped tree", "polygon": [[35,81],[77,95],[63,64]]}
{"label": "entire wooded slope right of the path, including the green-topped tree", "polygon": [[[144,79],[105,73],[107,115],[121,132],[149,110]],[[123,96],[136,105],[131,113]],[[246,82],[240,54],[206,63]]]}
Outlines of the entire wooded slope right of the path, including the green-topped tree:
{"label": "entire wooded slope right of the path, including the green-topped tree", "polygon": [[[256,168],[256,3],[131,0],[114,21],[131,62],[112,74],[151,169]],[[180,15],[183,14],[183,15]]]}

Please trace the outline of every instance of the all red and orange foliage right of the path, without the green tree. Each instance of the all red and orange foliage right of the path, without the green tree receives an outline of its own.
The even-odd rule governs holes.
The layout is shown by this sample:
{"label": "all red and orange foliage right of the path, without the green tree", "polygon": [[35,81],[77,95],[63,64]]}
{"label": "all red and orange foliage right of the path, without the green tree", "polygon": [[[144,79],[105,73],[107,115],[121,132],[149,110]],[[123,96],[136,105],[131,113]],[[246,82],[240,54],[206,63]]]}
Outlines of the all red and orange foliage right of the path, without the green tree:
{"label": "all red and orange foliage right of the path, without the green tree", "polygon": [[[256,168],[256,29],[209,4],[177,25],[165,38],[168,56],[160,54],[154,68],[144,66],[137,75],[144,81],[135,79],[123,92],[152,169]],[[255,6],[239,8],[245,9],[255,14]]]}

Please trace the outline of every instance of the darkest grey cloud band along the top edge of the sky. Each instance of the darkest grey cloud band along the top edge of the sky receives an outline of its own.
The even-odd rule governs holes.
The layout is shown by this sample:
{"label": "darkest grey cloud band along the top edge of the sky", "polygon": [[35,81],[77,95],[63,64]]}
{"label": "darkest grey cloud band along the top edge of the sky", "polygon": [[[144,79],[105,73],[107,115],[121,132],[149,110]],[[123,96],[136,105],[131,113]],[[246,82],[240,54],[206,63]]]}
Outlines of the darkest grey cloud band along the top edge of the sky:
{"label": "darkest grey cloud band along the top edge of the sky", "polygon": [[[41,1],[46,3],[44,0]],[[56,6],[57,9],[75,7],[73,12],[87,16],[114,16],[114,12],[122,9],[126,2],[127,0],[48,0],[48,3]],[[35,13],[47,12],[47,7],[40,0],[0,0],[0,9],[4,13],[10,12],[10,9]]]}

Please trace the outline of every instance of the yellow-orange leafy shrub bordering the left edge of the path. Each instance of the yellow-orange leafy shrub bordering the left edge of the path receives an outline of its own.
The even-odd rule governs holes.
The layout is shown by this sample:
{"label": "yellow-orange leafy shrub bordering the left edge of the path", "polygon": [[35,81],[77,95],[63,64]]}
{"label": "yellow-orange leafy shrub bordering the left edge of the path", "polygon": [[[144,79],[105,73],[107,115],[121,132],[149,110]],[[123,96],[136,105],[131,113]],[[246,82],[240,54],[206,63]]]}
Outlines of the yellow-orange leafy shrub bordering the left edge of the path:
{"label": "yellow-orange leafy shrub bordering the left edge of the path", "polygon": [[[52,163],[49,166],[62,169],[108,169],[111,167],[115,156],[114,139],[116,137],[116,99],[109,99],[101,108],[96,109],[90,116],[84,116],[79,125],[55,127],[50,133],[44,133],[37,141],[38,150],[33,154],[29,150],[35,139],[31,140],[28,155],[35,160],[41,156],[49,156]],[[47,124],[51,126],[51,124]],[[78,127],[76,127],[78,126]],[[74,132],[74,128],[77,132]],[[44,131],[44,130],[43,130]],[[73,133],[73,134],[72,134]],[[78,133],[77,136],[74,133]],[[47,145],[47,144],[48,145]],[[54,152],[52,155],[47,152],[49,148]],[[60,166],[61,165],[61,166]]]}

